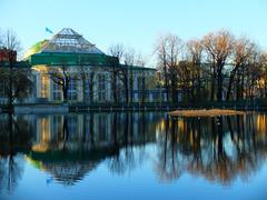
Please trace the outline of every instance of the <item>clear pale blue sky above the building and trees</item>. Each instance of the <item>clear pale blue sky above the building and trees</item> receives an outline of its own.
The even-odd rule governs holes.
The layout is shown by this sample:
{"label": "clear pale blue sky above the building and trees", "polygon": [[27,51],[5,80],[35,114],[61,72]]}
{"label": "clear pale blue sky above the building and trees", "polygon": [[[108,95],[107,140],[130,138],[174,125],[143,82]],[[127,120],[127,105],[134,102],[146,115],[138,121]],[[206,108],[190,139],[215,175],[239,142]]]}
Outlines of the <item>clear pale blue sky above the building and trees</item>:
{"label": "clear pale blue sky above the building and trees", "polygon": [[107,52],[123,43],[150,62],[157,37],[182,40],[227,29],[267,50],[266,0],[0,0],[0,29],[17,32],[22,48],[72,28]]}

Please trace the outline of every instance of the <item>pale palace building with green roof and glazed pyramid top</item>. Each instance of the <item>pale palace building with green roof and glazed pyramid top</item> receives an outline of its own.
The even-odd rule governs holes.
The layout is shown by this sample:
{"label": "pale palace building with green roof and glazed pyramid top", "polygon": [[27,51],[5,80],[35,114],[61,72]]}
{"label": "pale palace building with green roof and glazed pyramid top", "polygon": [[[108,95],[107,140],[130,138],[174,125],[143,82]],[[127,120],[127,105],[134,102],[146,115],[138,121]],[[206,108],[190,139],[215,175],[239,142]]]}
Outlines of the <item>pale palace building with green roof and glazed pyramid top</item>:
{"label": "pale palace building with green roof and glazed pyramid top", "polygon": [[[36,43],[23,59],[32,69],[30,102],[140,102],[156,96],[152,68],[127,66],[72,29]],[[63,88],[68,87],[65,92]]]}

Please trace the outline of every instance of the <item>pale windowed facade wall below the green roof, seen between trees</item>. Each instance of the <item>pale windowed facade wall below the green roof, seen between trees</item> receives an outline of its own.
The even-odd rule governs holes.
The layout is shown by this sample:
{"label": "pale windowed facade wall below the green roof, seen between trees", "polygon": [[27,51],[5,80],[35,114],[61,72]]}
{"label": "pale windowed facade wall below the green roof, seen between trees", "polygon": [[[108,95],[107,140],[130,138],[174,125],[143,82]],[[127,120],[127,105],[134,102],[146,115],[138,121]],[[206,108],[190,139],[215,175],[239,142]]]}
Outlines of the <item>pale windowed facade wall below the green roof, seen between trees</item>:
{"label": "pale windowed facade wall below the green roof, seen between trees", "polygon": [[[29,99],[31,102],[62,102],[63,92],[61,86],[56,83],[51,74],[49,73],[50,67],[34,67],[33,69],[33,80],[34,89],[32,97]],[[55,67],[53,67],[55,68]],[[87,68],[87,77],[82,79],[77,67],[68,67],[68,73],[71,77],[68,89],[68,102],[86,102],[91,103],[92,98],[93,102],[113,102],[113,91],[112,91],[112,73],[108,68]],[[90,77],[90,74],[93,74]],[[132,90],[132,101],[140,101],[140,81],[145,79],[146,81],[146,91],[149,91],[148,80],[154,79],[154,70],[136,70],[132,72],[132,79],[128,78],[129,87],[129,99],[131,98]],[[130,76],[130,74],[128,74]],[[145,77],[145,78],[144,78]],[[92,78],[92,79],[91,79]],[[132,80],[132,89],[131,82]],[[90,86],[91,84],[91,86]],[[92,88],[90,90],[90,87]],[[117,97],[118,102],[125,102],[125,84],[122,81],[117,78]],[[147,94],[146,101],[152,101],[151,94]]]}

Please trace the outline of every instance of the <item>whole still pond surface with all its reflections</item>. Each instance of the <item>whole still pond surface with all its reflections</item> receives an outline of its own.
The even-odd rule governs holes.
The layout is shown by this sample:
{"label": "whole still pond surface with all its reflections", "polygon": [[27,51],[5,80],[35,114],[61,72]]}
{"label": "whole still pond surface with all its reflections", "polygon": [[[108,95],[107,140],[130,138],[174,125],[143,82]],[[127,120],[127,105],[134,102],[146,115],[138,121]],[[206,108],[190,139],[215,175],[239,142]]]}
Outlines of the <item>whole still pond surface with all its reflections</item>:
{"label": "whole still pond surface with all its reflections", "polygon": [[267,114],[0,116],[0,199],[267,199]]}

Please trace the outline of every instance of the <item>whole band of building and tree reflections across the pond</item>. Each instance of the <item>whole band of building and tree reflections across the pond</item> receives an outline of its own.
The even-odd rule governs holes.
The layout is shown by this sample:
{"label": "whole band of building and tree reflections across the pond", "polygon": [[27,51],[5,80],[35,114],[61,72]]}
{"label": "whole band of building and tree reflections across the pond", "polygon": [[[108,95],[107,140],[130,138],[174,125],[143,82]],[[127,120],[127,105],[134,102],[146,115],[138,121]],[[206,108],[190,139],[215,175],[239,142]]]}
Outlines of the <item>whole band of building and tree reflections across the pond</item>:
{"label": "whole band of building and tree reflections across the pond", "polygon": [[10,117],[1,116],[0,183],[8,190],[23,173],[23,158],[67,186],[103,161],[110,172],[125,174],[151,159],[162,182],[187,172],[229,184],[247,180],[267,152],[263,113],[169,118],[160,112],[96,112],[17,116],[11,122],[9,129]]}

